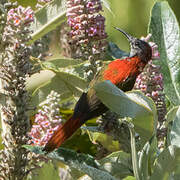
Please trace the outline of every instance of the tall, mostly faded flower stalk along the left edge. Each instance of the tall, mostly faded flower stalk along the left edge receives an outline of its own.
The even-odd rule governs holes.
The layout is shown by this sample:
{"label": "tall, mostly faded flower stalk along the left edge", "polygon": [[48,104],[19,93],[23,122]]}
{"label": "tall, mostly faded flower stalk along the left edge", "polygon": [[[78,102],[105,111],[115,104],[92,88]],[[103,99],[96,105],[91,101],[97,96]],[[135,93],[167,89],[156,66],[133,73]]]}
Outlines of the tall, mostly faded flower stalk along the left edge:
{"label": "tall, mostly faded flower stalk along the left edge", "polygon": [[25,43],[30,39],[29,25],[33,21],[30,7],[18,6],[7,12],[2,33],[4,51],[1,54],[0,92],[4,101],[0,102],[2,141],[4,149],[0,154],[0,177],[21,180],[27,175],[28,152],[22,145],[28,142],[29,95],[26,79],[31,75],[29,62],[30,47]]}

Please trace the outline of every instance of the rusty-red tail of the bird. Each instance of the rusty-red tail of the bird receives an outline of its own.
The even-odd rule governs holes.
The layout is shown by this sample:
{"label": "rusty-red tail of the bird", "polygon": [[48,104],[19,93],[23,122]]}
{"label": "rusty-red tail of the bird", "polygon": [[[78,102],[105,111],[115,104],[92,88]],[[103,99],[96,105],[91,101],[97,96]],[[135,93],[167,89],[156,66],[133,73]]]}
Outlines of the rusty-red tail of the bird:
{"label": "rusty-red tail of the bird", "polygon": [[67,120],[62,126],[58,128],[57,131],[54,132],[53,136],[45,145],[43,151],[51,152],[55,148],[58,148],[78,128],[80,128],[80,126],[83,124],[81,122],[81,118],[73,119],[73,117],[71,117],[69,120]]}

